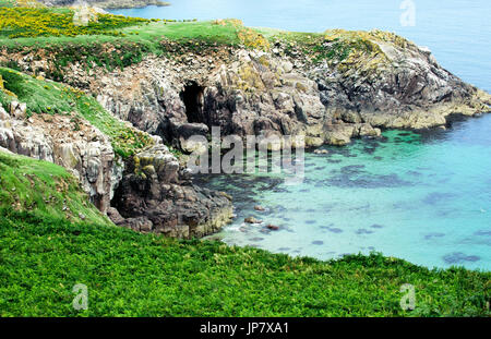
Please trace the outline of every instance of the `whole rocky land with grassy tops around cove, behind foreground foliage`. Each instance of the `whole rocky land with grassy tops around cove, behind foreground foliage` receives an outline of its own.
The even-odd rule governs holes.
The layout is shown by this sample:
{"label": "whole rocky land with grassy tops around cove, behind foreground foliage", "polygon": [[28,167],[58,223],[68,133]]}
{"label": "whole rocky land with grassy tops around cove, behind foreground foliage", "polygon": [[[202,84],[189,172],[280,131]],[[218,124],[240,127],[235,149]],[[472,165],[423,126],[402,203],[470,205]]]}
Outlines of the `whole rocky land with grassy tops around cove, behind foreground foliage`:
{"label": "whole rocky land with grassy tops around cove, behind foreground foliage", "polygon": [[[2,174],[5,225],[34,213],[201,238],[230,220],[232,202],[192,182],[182,160],[190,135],[220,126],[223,135],[302,135],[308,147],[343,146],[383,129],[444,128],[491,105],[429,49],[392,33],[110,14],[77,27],[60,19],[71,10],[59,10],[62,24],[51,11],[0,8],[0,162],[2,173],[26,179]],[[29,26],[29,15],[49,19]],[[37,182],[22,166],[34,160],[21,156],[63,168],[64,179],[45,187],[49,196],[29,193],[47,181]],[[69,192],[76,198],[68,201]]]}

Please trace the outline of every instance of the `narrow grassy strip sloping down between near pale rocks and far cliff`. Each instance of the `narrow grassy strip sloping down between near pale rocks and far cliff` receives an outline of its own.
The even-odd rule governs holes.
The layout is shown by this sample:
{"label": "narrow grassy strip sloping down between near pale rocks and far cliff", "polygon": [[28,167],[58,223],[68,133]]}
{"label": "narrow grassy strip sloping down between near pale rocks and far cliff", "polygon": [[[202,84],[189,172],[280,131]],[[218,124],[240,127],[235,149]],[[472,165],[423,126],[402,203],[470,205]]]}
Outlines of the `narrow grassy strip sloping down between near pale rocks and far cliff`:
{"label": "narrow grassy strip sloping down between near pale rocks and far cliff", "polygon": [[95,98],[79,89],[5,68],[0,68],[0,76],[4,89],[16,96],[0,90],[0,105],[5,109],[11,101],[16,100],[27,104],[28,114],[76,112],[108,135],[115,152],[123,158],[152,144],[148,134],[127,126],[109,114]]}

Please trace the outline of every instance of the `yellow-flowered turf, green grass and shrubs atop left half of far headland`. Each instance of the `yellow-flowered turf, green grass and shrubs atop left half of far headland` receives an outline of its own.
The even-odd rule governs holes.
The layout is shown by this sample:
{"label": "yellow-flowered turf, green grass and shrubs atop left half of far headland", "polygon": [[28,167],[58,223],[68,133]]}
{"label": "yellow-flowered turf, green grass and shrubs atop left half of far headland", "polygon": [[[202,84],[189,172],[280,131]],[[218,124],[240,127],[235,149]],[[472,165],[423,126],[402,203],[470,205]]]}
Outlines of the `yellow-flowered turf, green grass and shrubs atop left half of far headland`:
{"label": "yellow-flowered turf, green grass and shrubs atop left half of far headland", "polygon": [[[239,45],[268,48],[261,34],[238,20],[176,22],[94,14],[87,26],[75,26],[73,15],[69,9],[0,8],[0,45],[7,55],[38,51],[36,58],[52,60],[55,70],[47,70],[47,76],[56,81],[62,81],[62,69],[74,62],[111,70],[137,63],[148,53],[172,57]],[[5,61],[3,65],[12,66]]]}

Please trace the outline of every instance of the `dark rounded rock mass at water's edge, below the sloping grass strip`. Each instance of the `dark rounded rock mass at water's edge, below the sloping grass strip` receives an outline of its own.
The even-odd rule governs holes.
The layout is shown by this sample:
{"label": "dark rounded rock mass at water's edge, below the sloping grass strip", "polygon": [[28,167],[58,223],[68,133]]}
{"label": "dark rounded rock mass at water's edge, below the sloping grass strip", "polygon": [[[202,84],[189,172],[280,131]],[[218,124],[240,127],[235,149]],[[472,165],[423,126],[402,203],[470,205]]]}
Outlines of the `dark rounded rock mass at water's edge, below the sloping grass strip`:
{"label": "dark rounded rock mass at water's edge, below the sloping grass strip", "polygon": [[118,187],[115,223],[172,238],[201,238],[231,218],[227,194],[193,185],[165,145],[137,154]]}

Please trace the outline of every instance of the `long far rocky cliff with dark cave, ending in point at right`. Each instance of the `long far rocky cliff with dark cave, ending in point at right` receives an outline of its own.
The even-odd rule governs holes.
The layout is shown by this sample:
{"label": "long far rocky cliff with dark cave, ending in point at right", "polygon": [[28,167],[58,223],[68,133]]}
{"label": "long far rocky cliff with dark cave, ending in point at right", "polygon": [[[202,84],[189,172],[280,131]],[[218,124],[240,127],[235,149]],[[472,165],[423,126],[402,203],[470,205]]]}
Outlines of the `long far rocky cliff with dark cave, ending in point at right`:
{"label": "long far rocky cliff with dark cave, ending in point at right", "polygon": [[[308,146],[344,145],[380,129],[444,126],[448,116],[489,110],[490,96],[428,49],[379,31],[330,31],[310,45],[278,37],[267,50],[163,44],[166,55],[111,72],[72,63],[63,81],[184,150],[190,134],[212,125],[223,135],[301,134]],[[31,58],[20,63],[31,68]],[[38,61],[34,72],[50,66]]]}

